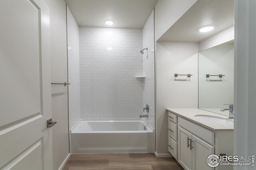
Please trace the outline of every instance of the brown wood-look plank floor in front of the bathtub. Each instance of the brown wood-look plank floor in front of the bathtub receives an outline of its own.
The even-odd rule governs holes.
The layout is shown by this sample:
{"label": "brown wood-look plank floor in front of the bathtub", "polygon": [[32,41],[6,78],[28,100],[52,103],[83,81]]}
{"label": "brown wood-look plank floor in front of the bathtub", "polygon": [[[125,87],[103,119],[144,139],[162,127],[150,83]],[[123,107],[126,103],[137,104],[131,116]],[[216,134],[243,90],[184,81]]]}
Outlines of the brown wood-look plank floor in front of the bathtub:
{"label": "brown wood-look plank floor in front of the bathtub", "polygon": [[174,158],[153,153],[72,154],[63,170],[184,170]]}

